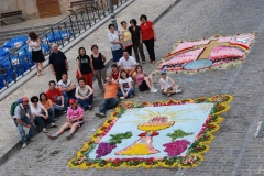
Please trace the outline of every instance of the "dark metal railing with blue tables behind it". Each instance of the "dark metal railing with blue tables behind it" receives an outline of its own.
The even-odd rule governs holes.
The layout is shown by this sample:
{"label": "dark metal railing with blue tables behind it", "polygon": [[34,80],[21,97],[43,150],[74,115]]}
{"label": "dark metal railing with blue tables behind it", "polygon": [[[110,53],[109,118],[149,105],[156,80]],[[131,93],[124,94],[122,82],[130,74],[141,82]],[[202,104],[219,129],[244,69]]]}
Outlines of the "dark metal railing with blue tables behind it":
{"label": "dark metal railing with blue tables behind it", "polygon": [[[114,3],[113,9],[119,8],[127,1],[129,0],[116,1],[118,3]],[[109,0],[97,0],[95,4],[72,11],[72,14],[67,18],[38,35],[43,54],[47,56],[52,53],[52,43],[56,43],[59,47],[68,45],[109,13]],[[29,51],[29,46],[25,44],[20,48],[12,50],[10,55],[0,59],[0,92],[15,84],[32,69],[34,69],[34,62],[32,62],[32,53]]]}

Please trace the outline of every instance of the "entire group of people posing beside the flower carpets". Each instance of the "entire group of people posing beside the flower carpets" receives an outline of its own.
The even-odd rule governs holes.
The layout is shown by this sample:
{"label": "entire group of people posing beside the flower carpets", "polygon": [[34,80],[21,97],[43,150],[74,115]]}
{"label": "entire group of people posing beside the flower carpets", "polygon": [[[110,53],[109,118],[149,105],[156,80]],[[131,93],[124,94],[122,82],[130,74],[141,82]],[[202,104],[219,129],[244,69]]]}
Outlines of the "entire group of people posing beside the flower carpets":
{"label": "entire group of people posing beside the flower carpets", "polygon": [[[78,86],[76,86],[67,75],[69,65],[65,54],[58,50],[57,44],[52,44],[52,54],[50,55],[50,68],[55,75],[55,80],[48,82],[48,90],[41,92],[40,96],[33,96],[29,100],[26,97],[21,99],[14,109],[14,122],[20,131],[22,139],[22,147],[26,146],[28,141],[34,141],[33,131],[35,125],[40,125],[44,133],[47,133],[47,125],[57,128],[55,124],[56,113],[67,113],[67,121],[54,134],[48,134],[50,139],[56,139],[70,129],[66,135],[72,139],[75,131],[84,123],[84,111],[92,110],[94,88],[92,77],[96,76],[100,92],[103,94],[103,100],[99,107],[97,117],[106,117],[108,109],[116,107],[121,99],[132,98],[135,96],[135,87],[140,91],[150,90],[157,92],[154,87],[152,75],[147,75],[140,65],[139,51],[142,64],[145,64],[143,52],[144,43],[150,54],[151,63],[155,64],[154,41],[155,30],[152,22],[147,21],[146,15],[140,18],[142,24],[136,25],[136,20],[130,21],[131,26],[128,29],[127,22],[122,21],[122,30],[120,33],[114,31],[113,24],[109,25],[109,41],[111,44],[112,59],[111,73],[107,75],[106,56],[101,54],[97,45],[91,46],[92,54],[86,54],[86,50],[80,47],[76,58],[76,75]],[[31,34],[36,41],[28,41],[32,52],[40,50],[40,38]],[[33,41],[33,42],[32,42]],[[132,48],[136,58],[131,56]],[[32,53],[33,54],[33,53]],[[36,56],[37,55],[37,56]],[[35,54],[40,57],[41,53]],[[43,59],[43,58],[41,58]],[[37,63],[37,62],[36,62]],[[37,75],[44,75],[43,66],[40,63],[36,65]],[[165,70],[161,72],[160,85],[162,92],[170,96],[182,92],[179,86],[166,75]],[[31,101],[31,105],[29,105]],[[29,113],[29,117],[26,116]],[[25,135],[23,127],[29,128],[29,134]]]}

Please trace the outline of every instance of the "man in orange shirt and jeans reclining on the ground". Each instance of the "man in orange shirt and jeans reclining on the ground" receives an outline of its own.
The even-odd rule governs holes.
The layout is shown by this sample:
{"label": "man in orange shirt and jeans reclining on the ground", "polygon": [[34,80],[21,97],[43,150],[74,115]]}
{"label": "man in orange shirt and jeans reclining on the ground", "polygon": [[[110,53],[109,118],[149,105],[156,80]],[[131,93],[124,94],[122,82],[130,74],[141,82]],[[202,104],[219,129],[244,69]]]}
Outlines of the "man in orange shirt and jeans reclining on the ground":
{"label": "man in orange shirt and jeans reclining on the ground", "polygon": [[105,84],[106,92],[105,98],[99,107],[99,113],[96,113],[97,117],[103,118],[106,117],[106,110],[116,107],[119,102],[117,98],[118,92],[118,82],[112,80],[111,76],[107,76],[107,82]]}

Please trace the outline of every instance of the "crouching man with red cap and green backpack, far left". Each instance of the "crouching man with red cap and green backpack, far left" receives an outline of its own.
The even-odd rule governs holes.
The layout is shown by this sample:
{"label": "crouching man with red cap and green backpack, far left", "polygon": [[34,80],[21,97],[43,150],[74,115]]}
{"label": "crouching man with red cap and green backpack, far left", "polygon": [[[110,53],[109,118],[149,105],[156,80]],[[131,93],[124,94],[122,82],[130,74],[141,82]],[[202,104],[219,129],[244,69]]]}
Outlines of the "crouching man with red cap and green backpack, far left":
{"label": "crouching man with red cap and green backpack, far left", "polygon": [[[26,116],[29,113],[30,118]],[[15,109],[14,109],[14,123],[16,124],[20,136],[22,139],[22,147],[26,147],[26,142],[28,141],[35,141],[33,138],[33,132],[34,132],[34,121],[33,121],[33,116],[31,113],[31,109],[29,106],[29,99],[26,97],[22,97],[22,103],[19,103]],[[29,133],[25,135],[25,131],[23,127],[29,128]]]}

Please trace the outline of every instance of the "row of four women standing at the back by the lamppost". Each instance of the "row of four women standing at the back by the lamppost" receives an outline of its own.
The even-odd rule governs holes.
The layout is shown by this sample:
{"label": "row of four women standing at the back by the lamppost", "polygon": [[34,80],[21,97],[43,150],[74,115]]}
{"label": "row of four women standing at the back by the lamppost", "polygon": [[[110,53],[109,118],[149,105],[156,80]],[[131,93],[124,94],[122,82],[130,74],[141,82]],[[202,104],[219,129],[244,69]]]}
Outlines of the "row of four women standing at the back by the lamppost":
{"label": "row of four women standing at the back by the lamppost", "polygon": [[[147,21],[146,15],[142,14],[140,16],[141,25],[136,25],[136,20],[131,19],[130,25],[128,28],[128,23],[125,21],[121,22],[122,29],[120,33],[114,31],[114,25],[109,24],[109,33],[108,38],[111,45],[112,51],[112,59],[114,63],[118,63],[122,56],[122,50],[127,50],[129,55],[132,55],[132,48],[134,51],[134,55],[136,62],[140,63],[140,56],[142,59],[142,64],[145,64],[145,55],[143,51],[143,43],[146,46],[146,50],[150,55],[150,62],[155,64],[155,51],[154,51],[154,42],[156,41],[156,33],[154,29],[154,24],[151,21]],[[140,52],[140,55],[139,55]]]}

